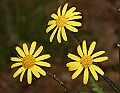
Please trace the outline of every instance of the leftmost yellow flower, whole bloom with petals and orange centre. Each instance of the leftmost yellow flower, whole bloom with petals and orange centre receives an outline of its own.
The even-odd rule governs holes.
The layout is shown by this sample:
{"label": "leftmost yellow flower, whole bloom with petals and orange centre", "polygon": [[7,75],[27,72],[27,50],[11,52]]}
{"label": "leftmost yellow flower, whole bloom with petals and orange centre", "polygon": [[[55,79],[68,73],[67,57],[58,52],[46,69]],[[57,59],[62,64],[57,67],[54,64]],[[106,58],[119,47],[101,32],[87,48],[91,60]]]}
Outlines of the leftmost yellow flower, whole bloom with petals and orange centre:
{"label": "leftmost yellow flower, whole bloom with petals and orange centre", "polygon": [[[39,78],[40,74],[46,76],[46,72],[40,68],[39,66],[51,67],[51,65],[43,60],[50,58],[50,54],[45,54],[39,56],[41,51],[43,50],[43,46],[40,46],[37,51],[34,53],[36,47],[36,42],[34,41],[31,44],[30,50],[28,50],[28,46],[26,43],[23,44],[23,50],[20,47],[16,47],[16,51],[20,55],[20,57],[11,57],[11,61],[15,61],[11,68],[21,66],[13,75],[13,77],[17,77],[20,75],[20,82],[22,82],[25,71],[27,70],[27,81],[28,84],[32,82],[32,73]],[[39,66],[38,66],[39,65]]]}

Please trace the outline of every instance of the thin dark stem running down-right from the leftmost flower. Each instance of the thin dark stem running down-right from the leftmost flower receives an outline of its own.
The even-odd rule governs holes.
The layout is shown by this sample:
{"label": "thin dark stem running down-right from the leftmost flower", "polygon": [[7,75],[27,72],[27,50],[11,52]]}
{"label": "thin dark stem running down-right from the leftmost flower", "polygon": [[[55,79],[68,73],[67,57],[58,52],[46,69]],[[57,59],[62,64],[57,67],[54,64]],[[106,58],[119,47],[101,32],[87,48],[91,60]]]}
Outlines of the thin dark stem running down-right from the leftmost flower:
{"label": "thin dark stem running down-right from the leftmost flower", "polygon": [[70,90],[62,81],[60,81],[60,80],[56,77],[56,75],[53,75],[53,74],[50,73],[50,72],[47,72],[47,75],[48,75],[49,77],[51,77],[52,79],[54,79],[55,81],[57,81],[57,82],[58,82],[61,86],[63,86],[64,89],[67,90],[69,93],[73,93],[72,90]]}

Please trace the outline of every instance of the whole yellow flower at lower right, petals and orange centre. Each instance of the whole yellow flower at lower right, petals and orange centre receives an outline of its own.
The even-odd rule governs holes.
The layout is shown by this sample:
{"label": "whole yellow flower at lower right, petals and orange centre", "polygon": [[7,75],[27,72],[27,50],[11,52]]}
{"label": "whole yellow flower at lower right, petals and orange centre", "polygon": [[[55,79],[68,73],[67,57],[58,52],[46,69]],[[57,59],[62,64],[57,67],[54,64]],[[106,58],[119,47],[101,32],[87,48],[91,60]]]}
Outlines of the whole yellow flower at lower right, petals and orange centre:
{"label": "whole yellow flower at lower right, petals and orange centre", "polygon": [[[108,57],[104,56],[104,57],[98,57],[102,54],[105,53],[105,51],[99,51],[96,52],[94,54],[92,54],[94,48],[95,48],[96,42],[92,42],[92,44],[89,47],[89,50],[87,52],[87,46],[86,46],[86,41],[84,40],[82,43],[82,49],[81,46],[79,45],[77,47],[77,52],[79,54],[80,57],[68,53],[68,57],[72,60],[74,60],[73,62],[69,62],[66,64],[67,67],[69,67],[69,71],[75,71],[75,73],[72,75],[72,79],[75,79],[83,70],[84,70],[84,76],[83,76],[83,83],[87,84],[88,82],[88,78],[89,78],[89,71],[92,73],[93,77],[95,78],[95,80],[98,80],[98,75],[96,72],[98,72],[101,75],[104,75],[104,72],[96,65],[93,64],[93,62],[102,62],[108,59]],[[96,58],[98,57],[98,58]]]}

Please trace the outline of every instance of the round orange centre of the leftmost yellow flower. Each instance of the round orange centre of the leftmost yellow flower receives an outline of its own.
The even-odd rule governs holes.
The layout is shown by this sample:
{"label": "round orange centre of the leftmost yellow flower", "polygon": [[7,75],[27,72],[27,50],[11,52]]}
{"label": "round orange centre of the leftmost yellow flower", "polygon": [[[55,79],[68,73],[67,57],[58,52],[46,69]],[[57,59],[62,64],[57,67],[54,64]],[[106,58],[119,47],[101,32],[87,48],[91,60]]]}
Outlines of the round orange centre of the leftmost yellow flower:
{"label": "round orange centre of the leftmost yellow flower", "polygon": [[22,66],[29,69],[35,65],[35,62],[35,57],[27,55],[23,58]]}

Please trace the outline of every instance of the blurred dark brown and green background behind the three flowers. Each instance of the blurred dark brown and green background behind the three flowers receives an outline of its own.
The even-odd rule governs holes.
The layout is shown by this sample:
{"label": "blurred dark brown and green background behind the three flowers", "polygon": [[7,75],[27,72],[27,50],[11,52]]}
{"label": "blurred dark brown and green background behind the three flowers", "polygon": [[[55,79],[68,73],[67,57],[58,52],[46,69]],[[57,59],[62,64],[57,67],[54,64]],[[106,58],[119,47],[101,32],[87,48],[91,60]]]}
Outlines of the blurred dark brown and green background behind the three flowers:
{"label": "blurred dark brown and green background behind the three flowers", "polygon": [[[0,0],[0,93],[67,93],[64,88],[49,76],[37,79],[33,76],[33,82],[28,85],[26,76],[22,83],[19,77],[13,78],[11,70],[11,56],[16,56],[15,46],[22,47],[26,42],[29,46],[32,41],[37,41],[37,47],[44,46],[43,54],[50,53],[47,60],[52,64],[45,70],[56,74],[60,80],[71,88],[74,93],[96,93],[90,86],[83,85],[83,73],[75,80],[71,79],[65,64],[71,61],[67,53],[77,54],[78,42],[70,31],[67,31],[68,42],[62,40],[59,44],[54,38],[49,42],[51,33],[46,34],[47,23],[52,13],[56,13],[60,5],[69,3],[68,8],[75,6],[76,11],[82,13],[83,26],[78,28],[77,35],[82,40],[87,40],[89,47],[92,41],[97,41],[94,52],[105,50],[108,61],[99,63],[99,66],[115,84],[119,84],[118,70],[118,8],[119,0]],[[99,76],[97,81],[105,93],[114,93],[108,83]],[[82,92],[80,92],[82,91]]]}

